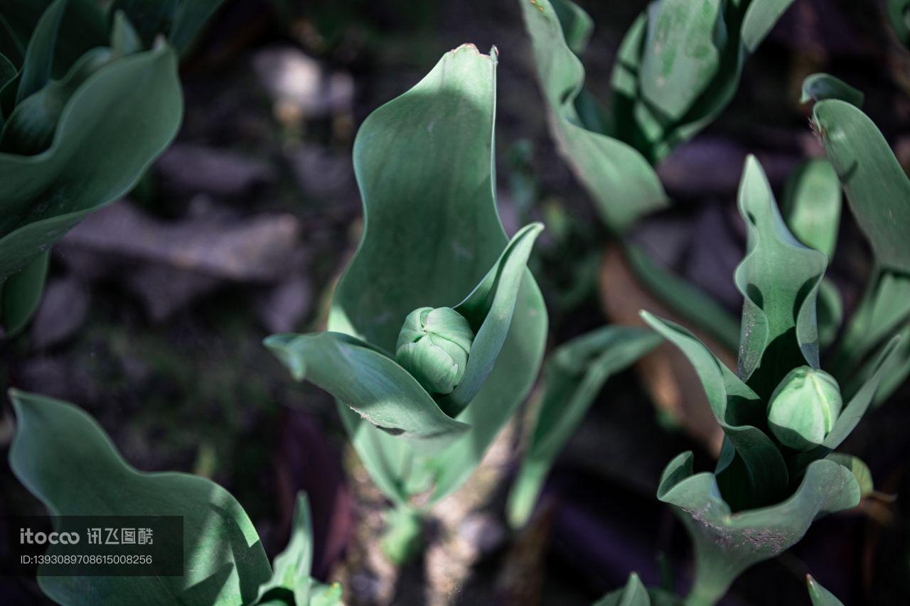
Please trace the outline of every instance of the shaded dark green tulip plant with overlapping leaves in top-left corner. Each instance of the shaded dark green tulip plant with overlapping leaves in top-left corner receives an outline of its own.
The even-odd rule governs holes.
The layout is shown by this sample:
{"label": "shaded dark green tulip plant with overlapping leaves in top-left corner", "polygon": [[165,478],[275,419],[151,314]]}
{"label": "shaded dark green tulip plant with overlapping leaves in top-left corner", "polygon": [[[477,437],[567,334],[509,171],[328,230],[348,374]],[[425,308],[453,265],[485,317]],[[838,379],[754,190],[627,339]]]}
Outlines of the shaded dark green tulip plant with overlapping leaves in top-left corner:
{"label": "shaded dark green tulip plant with overlapping leaves in top-left corner", "polygon": [[7,335],[37,307],[50,247],[126,194],[177,134],[177,50],[219,4],[0,6],[0,322]]}

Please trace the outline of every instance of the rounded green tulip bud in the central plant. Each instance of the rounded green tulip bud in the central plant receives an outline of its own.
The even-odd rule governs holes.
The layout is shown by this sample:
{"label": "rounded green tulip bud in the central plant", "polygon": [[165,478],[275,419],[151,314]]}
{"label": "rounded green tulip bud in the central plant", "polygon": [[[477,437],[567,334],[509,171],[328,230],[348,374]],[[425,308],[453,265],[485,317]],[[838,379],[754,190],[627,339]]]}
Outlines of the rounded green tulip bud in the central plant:
{"label": "rounded green tulip bud in the central plant", "polygon": [[420,308],[408,314],[395,346],[395,361],[431,394],[448,394],[464,377],[474,333],[452,308]]}

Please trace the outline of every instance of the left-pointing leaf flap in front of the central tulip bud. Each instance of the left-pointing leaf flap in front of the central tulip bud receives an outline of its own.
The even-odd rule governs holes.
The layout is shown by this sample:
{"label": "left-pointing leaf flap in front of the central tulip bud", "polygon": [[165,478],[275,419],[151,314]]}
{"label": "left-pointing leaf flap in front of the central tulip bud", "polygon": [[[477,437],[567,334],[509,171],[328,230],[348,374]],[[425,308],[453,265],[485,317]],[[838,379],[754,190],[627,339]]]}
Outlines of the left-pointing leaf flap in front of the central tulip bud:
{"label": "left-pointing leaf flap in front of the central tulip bud", "polygon": [[446,415],[388,354],[339,332],[273,335],[270,348],[294,379],[325,389],[389,435],[438,449],[468,427]]}

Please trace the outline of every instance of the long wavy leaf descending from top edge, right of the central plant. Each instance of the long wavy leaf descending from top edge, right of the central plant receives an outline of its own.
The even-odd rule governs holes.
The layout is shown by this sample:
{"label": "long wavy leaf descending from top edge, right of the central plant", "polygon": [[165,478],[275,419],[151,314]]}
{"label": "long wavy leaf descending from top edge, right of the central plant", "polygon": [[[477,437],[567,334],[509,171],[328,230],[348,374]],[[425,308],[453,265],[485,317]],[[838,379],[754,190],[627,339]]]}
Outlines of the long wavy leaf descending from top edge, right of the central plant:
{"label": "long wavy leaf descending from top edge, right of the central plant", "polygon": [[584,83],[584,68],[566,42],[553,5],[548,0],[520,0],[520,4],[551,115],[552,136],[603,221],[622,231],[642,215],[667,206],[660,179],[641,153],[580,125],[574,104]]}

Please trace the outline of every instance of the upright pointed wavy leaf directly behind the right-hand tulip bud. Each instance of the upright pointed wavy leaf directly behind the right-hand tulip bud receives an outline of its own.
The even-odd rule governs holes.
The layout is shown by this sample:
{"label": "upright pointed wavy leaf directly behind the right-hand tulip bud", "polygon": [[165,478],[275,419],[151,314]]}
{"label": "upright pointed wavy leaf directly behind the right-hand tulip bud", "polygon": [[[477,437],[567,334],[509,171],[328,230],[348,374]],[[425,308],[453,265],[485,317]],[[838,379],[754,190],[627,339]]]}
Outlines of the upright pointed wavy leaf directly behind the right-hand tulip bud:
{"label": "upright pointed wavy leaf directly behind the right-hand tulip bud", "polygon": [[743,169],[739,208],[747,241],[735,273],[743,294],[737,374],[767,398],[790,369],[819,367],[815,298],[827,260],[787,229],[767,177],[751,156]]}

